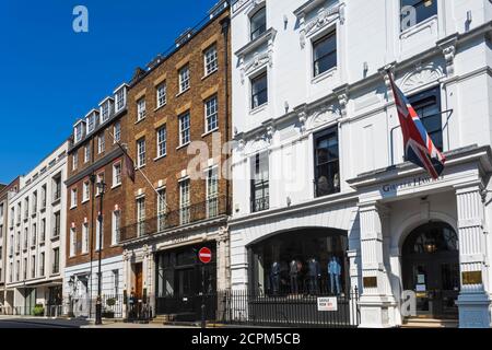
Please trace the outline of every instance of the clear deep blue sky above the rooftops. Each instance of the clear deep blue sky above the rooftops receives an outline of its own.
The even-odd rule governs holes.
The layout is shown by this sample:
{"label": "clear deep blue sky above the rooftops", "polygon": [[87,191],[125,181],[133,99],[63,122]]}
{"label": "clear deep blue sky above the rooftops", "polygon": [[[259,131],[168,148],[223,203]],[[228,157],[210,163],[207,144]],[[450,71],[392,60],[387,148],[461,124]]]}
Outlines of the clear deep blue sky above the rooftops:
{"label": "clear deep blue sky above the rooftops", "polygon": [[[69,137],[77,118],[137,66],[174,44],[216,0],[2,0],[0,183],[28,173]],[[75,5],[89,33],[72,30]]]}

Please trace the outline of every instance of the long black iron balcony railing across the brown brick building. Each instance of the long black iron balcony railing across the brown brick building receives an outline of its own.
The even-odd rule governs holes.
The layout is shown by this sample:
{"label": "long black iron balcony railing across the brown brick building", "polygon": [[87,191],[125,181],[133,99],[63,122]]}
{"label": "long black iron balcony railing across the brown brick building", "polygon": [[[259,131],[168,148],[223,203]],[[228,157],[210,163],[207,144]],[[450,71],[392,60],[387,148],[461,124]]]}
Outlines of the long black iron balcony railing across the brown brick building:
{"label": "long black iron balcony railing across the brown brick building", "polygon": [[213,219],[229,213],[229,201],[226,197],[216,197],[197,205],[190,205],[178,210],[168,211],[145,221],[136,222],[121,228],[121,242],[144,236],[147,234],[160,233],[164,230],[180,225]]}

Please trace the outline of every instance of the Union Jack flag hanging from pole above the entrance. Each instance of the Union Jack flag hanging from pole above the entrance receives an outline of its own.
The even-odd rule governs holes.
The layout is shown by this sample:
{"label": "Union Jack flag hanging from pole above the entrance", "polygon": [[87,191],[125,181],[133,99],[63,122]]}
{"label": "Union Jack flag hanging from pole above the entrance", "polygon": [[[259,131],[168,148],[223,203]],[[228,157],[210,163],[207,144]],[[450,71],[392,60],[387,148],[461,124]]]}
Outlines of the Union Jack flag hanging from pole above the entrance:
{"label": "Union Jack flag hanging from pole above the entrance", "polygon": [[405,159],[423,167],[432,178],[436,179],[444,171],[446,158],[432,142],[422,120],[401,90],[395,84],[390,72],[388,75],[403,133]]}

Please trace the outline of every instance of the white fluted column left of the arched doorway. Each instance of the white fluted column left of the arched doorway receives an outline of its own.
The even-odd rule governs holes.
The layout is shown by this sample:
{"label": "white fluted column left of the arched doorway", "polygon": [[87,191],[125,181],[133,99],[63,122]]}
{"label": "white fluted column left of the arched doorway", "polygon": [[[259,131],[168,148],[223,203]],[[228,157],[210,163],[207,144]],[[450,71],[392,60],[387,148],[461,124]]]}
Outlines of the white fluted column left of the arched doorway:
{"label": "white fluted column left of the arched doorway", "polygon": [[376,202],[371,202],[360,205],[360,213],[362,254],[360,327],[393,327],[394,317],[390,313],[397,305],[390,292],[383,247],[383,220],[387,210]]}

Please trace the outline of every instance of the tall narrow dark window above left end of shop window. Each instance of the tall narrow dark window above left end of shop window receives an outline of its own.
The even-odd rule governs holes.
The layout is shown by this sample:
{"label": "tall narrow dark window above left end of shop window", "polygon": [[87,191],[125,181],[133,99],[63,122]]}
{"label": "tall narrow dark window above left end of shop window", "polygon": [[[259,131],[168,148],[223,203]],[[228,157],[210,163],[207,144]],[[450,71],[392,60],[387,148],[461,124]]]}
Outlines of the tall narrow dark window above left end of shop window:
{"label": "tall narrow dark window above left end of shop window", "polygon": [[251,166],[251,212],[270,208],[268,152],[253,158]]}

